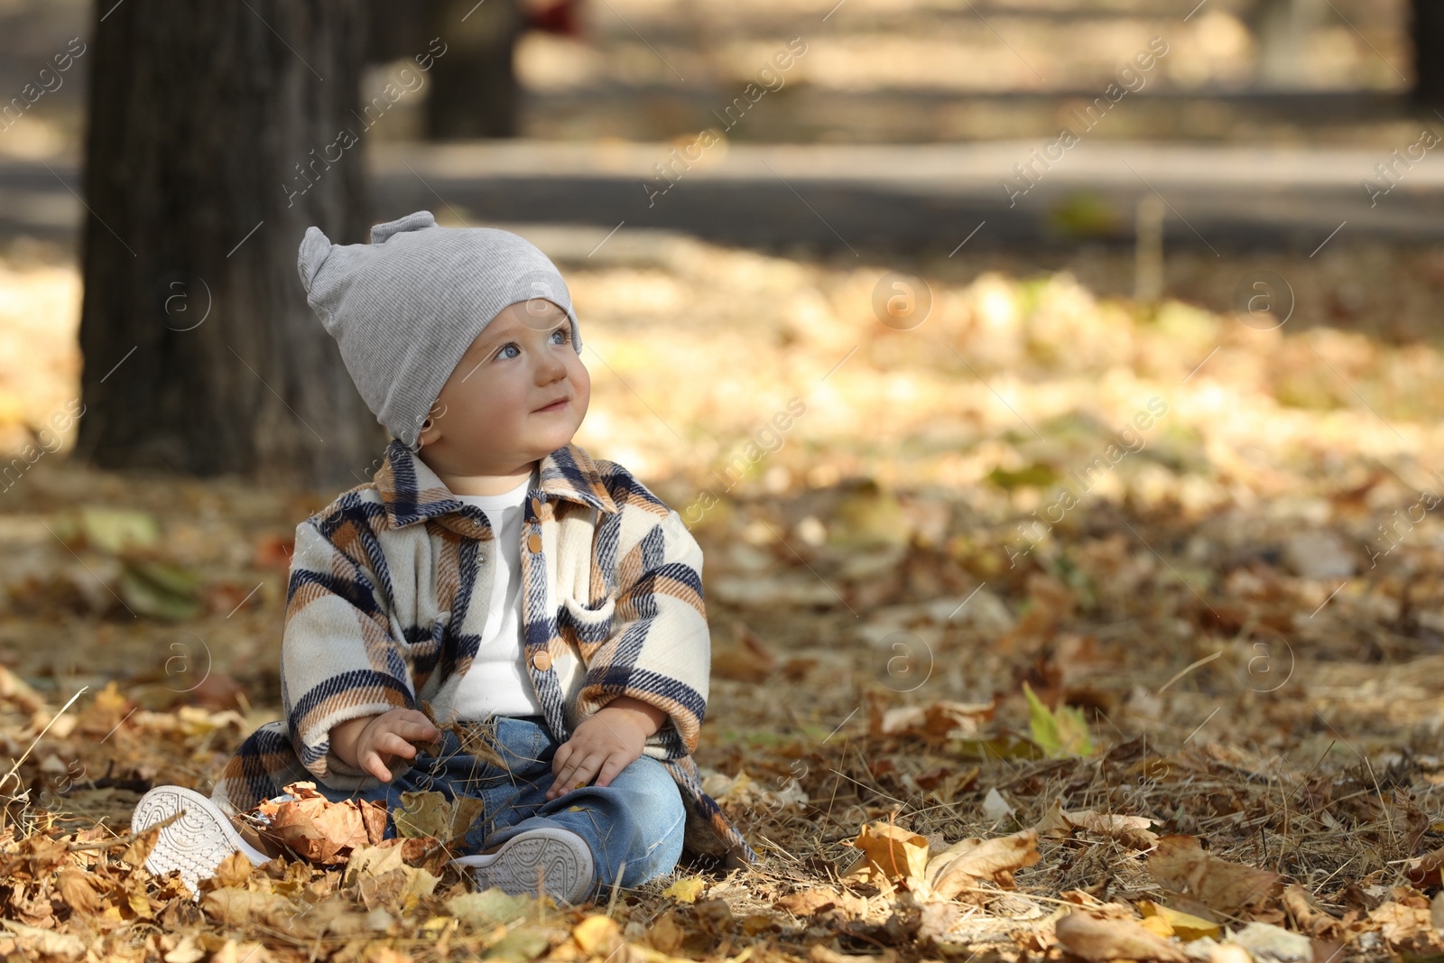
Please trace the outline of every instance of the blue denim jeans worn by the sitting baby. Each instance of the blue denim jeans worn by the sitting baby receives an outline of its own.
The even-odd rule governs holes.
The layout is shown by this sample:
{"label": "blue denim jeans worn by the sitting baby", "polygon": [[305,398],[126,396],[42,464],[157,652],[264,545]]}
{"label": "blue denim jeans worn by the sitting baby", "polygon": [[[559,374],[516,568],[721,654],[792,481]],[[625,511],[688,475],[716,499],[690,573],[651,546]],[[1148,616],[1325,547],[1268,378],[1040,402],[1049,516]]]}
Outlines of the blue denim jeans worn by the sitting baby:
{"label": "blue denim jeans worn by the sitting baby", "polygon": [[445,731],[438,757],[419,751],[412,768],[390,783],[351,791],[318,783],[316,790],[332,801],[384,800],[387,837],[396,836],[390,813],[400,809],[401,793],[435,790],[446,798],[477,797],[482,800],[482,814],[466,832],[466,853],[491,849],[539,826],[570,829],[591,846],[596,882],[602,888],[611,886],[618,872],[622,886],[671,872],[682,856],[686,811],[682,791],[661,762],[638,757],[611,785],[585,785],[547,801],[552,757],[560,744],[552,738],[546,719],[494,716],[494,720],[495,733],[485,736],[485,745],[505,768],[464,752],[461,741]]}

